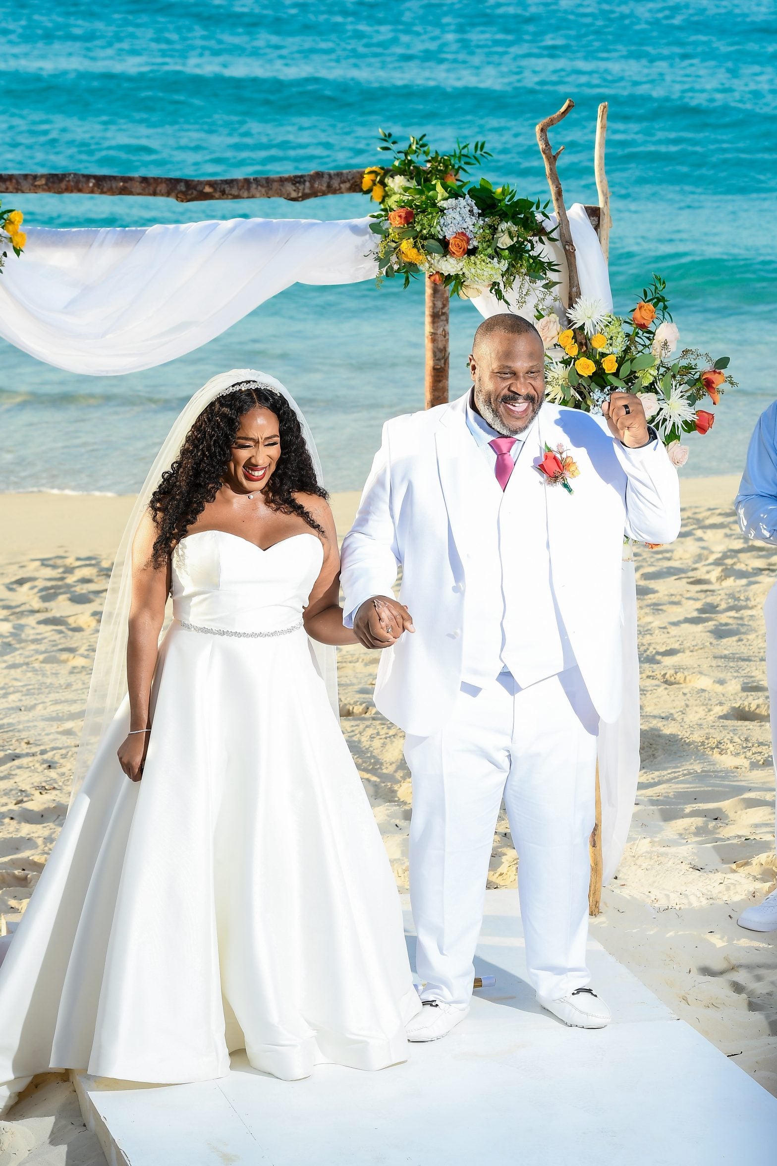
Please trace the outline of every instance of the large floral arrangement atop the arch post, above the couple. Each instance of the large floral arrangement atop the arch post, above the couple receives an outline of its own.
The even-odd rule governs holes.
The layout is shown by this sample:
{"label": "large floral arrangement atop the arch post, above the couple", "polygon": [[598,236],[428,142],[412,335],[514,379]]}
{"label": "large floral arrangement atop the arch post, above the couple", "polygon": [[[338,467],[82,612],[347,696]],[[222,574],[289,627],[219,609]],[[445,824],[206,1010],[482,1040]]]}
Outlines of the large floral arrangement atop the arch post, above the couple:
{"label": "large floral arrangement atop the arch post, above the couple", "polygon": [[457,142],[451,154],[431,149],[425,134],[400,148],[380,131],[377,147],[391,154],[386,166],[365,170],[362,190],[379,204],[370,216],[377,244],[379,282],[384,276],[424,273],[435,283],[468,300],[490,290],[499,300],[517,288],[521,298],[531,285],[548,293],[555,287],[556,266],[538,253],[537,240],[548,234],[537,217],[537,199],[520,198],[508,185],[486,178],[468,181],[468,170],[490,157],[485,142]]}

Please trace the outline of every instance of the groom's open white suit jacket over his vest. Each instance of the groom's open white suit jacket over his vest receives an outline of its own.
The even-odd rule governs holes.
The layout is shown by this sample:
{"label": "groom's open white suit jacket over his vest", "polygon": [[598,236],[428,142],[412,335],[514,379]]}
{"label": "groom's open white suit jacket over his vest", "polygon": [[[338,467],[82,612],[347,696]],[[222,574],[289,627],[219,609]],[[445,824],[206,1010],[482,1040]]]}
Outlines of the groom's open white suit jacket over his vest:
{"label": "groom's open white suit jacket over his vest", "polygon": [[[460,689],[464,605],[478,599],[467,593],[467,559],[482,547],[475,487],[485,459],[467,429],[467,398],[387,421],[342,543],[347,626],[370,596],[391,595],[402,568],[400,598],[416,632],[382,651],[375,704],[417,736],[445,722]],[[603,721],[615,721],[623,535],[657,543],[677,538],[677,471],[658,442],[628,450],[579,409],[544,403],[535,433],[535,448],[522,457],[538,462],[545,443],[560,443],[578,464],[572,494],[545,486],[552,585],[593,704]],[[504,602],[520,603],[521,595],[507,592]]]}

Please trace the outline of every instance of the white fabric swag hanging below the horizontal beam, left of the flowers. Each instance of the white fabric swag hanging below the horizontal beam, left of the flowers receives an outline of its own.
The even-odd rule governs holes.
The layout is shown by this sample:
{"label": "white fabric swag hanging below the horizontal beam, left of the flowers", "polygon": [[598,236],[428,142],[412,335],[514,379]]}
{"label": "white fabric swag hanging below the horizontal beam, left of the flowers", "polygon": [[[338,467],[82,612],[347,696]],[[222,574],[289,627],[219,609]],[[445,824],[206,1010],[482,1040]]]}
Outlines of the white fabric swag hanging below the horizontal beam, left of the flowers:
{"label": "white fabric swag hanging below the horizontal beam, left of the flowers", "polygon": [[0,276],[0,336],[69,372],[174,360],[292,283],[374,278],[369,219],[30,227]]}

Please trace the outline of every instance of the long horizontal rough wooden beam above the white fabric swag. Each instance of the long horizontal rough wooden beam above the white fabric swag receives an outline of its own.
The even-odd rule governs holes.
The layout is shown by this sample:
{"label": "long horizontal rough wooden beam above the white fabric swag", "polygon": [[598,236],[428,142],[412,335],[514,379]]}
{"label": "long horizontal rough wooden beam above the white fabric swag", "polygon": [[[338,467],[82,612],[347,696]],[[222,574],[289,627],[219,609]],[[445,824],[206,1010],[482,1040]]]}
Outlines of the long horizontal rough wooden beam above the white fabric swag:
{"label": "long horizontal rough wooden beam above the white fabric swag", "polygon": [[134,195],[204,203],[222,198],[285,198],[292,203],[361,191],[361,170],[312,170],[253,178],[154,178],[121,174],[0,174],[8,195]]}

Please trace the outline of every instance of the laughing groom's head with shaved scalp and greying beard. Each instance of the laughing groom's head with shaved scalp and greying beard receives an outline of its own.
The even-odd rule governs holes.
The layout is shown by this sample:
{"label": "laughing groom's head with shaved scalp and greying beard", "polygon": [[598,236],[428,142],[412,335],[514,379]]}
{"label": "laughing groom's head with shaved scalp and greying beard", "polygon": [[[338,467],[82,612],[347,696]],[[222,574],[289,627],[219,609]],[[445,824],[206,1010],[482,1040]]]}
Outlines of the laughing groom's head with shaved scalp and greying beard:
{"label": "laughing groom's head with shaved scalp and greying beard", "polygon": [[500,312],[485,319],[469,353],[474,405],[506,437],[527,429],[545,392],[545,346],[523,316]]}

